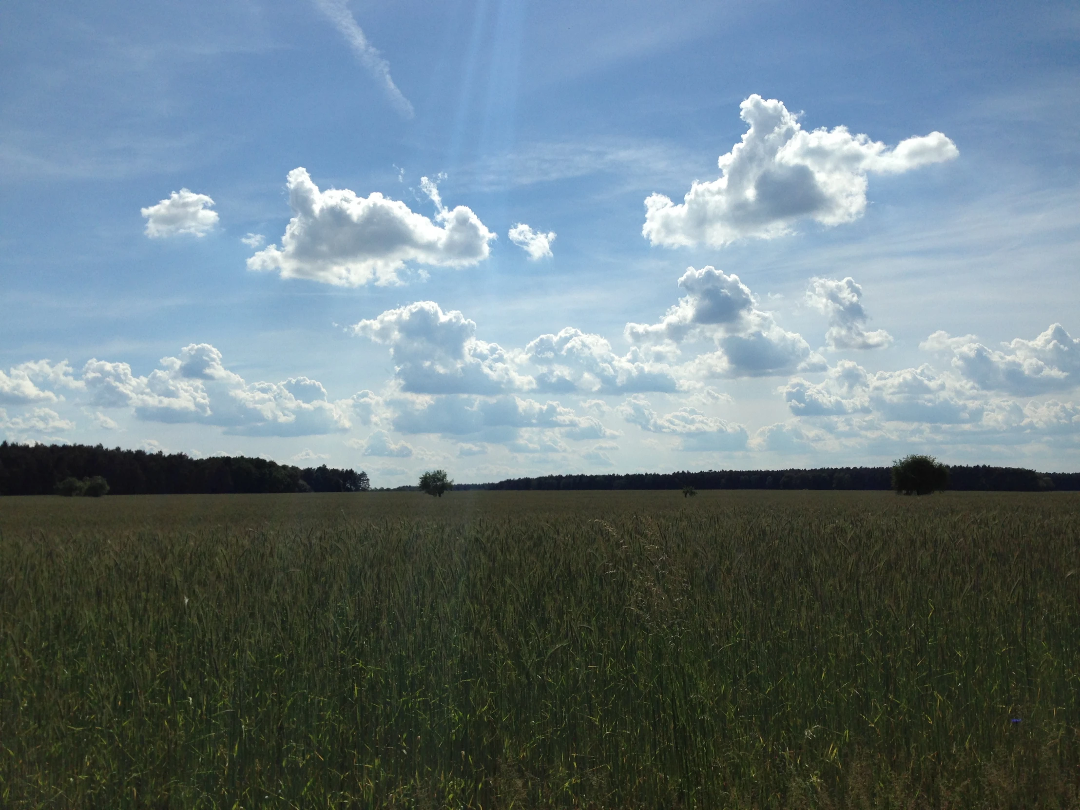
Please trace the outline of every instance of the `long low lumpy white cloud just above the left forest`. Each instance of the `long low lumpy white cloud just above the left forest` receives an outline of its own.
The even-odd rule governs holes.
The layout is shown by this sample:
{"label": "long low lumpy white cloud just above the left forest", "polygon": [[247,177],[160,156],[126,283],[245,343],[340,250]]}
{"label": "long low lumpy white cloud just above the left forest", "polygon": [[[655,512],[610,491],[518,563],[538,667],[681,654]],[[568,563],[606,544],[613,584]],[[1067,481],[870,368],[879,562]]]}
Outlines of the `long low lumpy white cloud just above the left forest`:
{"label": "long low lumpy white cloud just above the left forest", "polygon": [[192,343],[160,363],[137,376],[126,363],[87,361],[82,379],[91,403],[132,407],[139,419],[215,424],[244,435],[315,435],[350,427],[352,400],[329,402],[323,387],[307,377],[245,382],[208,343]]}

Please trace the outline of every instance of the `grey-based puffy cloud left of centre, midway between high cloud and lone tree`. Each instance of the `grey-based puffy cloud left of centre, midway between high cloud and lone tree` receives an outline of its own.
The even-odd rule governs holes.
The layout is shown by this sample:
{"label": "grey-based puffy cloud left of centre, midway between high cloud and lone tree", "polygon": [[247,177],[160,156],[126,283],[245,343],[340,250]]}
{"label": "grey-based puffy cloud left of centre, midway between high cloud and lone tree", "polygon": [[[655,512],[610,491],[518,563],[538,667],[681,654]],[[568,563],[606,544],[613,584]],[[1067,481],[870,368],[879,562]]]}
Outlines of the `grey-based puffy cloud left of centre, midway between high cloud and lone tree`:
{"label": "grey-based puffy cloud left of centre, midway between high cloud and lone tree", "polygon": [[434,301],[387,310],[352,326],[390,347],[402,389],[420,394],[497,394],[532,388],[498,343],[476,339],[476,324]]}

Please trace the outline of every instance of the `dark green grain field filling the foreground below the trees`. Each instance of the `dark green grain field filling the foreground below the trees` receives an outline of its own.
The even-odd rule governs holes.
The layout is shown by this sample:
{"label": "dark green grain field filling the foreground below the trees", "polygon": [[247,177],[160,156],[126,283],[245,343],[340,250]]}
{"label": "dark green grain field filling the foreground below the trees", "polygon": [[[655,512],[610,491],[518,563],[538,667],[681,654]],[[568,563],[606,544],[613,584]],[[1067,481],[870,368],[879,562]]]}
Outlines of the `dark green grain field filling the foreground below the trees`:
{"label": "dark green grain field filling the foreground below the trees", "polygon": [[0,499],[0,806],[1080,807],[1080,496]]}

